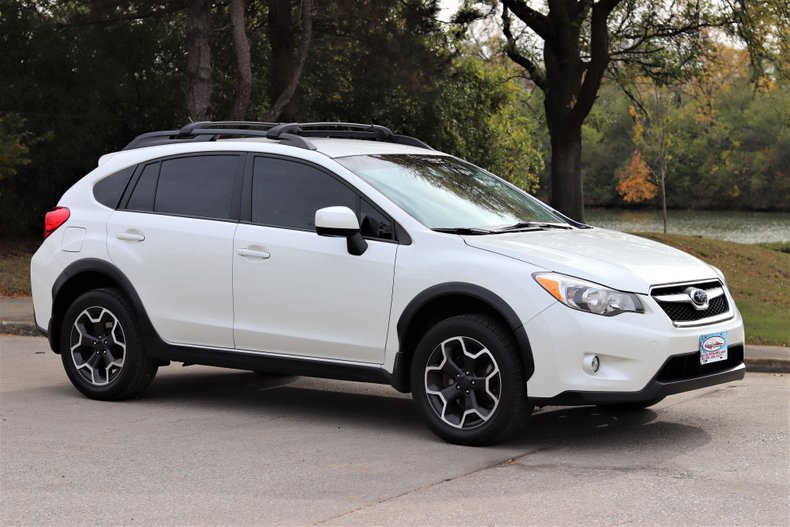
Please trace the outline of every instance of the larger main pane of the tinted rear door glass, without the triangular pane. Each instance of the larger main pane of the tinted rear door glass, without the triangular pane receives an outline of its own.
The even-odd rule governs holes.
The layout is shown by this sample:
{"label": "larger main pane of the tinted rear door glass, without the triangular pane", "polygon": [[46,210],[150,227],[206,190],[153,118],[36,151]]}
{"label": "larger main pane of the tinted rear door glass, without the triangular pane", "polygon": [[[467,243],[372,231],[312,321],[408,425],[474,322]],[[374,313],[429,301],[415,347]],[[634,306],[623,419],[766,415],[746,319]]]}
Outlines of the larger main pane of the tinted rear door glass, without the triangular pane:
{"label": "larger main pane of the tinted rear door glass, without the triangular pane", "polygon": [[230,218],[238,156],[196,156],[162,161],[155,212]]}

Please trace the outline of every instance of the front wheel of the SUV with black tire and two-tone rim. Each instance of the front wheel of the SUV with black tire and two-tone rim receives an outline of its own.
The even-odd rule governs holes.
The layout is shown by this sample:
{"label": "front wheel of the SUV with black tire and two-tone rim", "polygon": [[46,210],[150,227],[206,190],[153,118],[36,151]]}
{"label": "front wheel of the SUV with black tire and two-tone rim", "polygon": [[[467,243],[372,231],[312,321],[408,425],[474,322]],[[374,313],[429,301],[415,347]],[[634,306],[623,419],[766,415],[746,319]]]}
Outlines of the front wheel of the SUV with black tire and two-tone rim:
{"label": "front wheel of the SUV with black tire and two-tone rim", "polygon": [[428,427],[459,445],[501,441],[532,412],[512,332],[485,315],[454,316],[428,330],[414,352],[411,388]]}

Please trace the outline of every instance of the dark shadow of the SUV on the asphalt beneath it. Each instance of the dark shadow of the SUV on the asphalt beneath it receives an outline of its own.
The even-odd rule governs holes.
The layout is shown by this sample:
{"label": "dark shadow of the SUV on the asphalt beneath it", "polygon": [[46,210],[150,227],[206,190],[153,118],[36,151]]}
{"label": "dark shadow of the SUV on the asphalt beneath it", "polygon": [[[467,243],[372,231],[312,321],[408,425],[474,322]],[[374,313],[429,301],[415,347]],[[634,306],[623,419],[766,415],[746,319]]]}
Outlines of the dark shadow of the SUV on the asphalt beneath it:
{"label": "dark shadow of the SUV on the asphalt beneath it", "polygon": [[[244,371],[200,370],[163,375],[136,404],[220,409],[259,417],[299,417],[312,426],[386,430],[404,438],[435,441],[408,394],[388,386]],[[547,446],[620,451],[693,447],[710,440],[699,427],[659,418],[659,411],[609,412],[594,406],[545,407],[526,429],[499,446],[523,451]],[[663,413],[663,412],[662,412]],[[671,411],[666,414],[671,416]],[[665,415],[666,415],[665,414]]]}

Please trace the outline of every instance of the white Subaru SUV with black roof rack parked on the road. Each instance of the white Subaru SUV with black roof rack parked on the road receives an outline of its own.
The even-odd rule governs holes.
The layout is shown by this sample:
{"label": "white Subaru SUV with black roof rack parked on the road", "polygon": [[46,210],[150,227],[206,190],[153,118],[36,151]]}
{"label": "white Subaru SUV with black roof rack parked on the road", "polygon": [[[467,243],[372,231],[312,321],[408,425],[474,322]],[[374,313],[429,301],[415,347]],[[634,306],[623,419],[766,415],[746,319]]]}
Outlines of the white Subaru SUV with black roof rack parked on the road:
{"label": "white Subaru SUV with black roof rack parked on the road", "polygon": [[377,382],[478,445],[535,406],[641,408],[745,372],[716,268],[380,126],[143,134],[45,224],[36,322],[95,399],[169,361]]}

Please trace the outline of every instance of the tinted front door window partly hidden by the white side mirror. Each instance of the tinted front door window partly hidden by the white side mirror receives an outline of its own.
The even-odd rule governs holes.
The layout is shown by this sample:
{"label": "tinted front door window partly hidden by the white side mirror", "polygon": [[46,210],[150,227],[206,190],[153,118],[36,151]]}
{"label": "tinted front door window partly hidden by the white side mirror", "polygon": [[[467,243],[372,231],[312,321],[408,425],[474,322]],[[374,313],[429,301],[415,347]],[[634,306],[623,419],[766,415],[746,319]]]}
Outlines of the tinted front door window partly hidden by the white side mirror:
{"label": "tinted front door window partly hidden by the white side mirror", "polygon": [[252,221],[313,230],[315,211],[342,205],[358,210],[357,194],[317,168],[283,159],[255,158]]}

